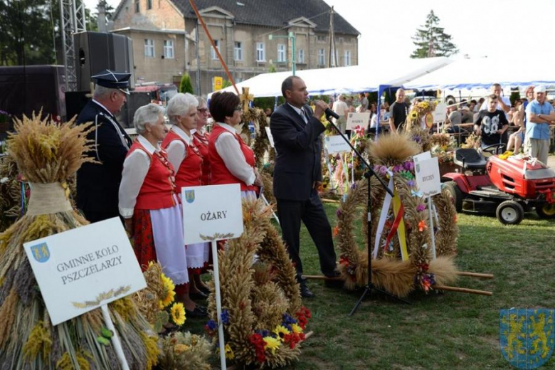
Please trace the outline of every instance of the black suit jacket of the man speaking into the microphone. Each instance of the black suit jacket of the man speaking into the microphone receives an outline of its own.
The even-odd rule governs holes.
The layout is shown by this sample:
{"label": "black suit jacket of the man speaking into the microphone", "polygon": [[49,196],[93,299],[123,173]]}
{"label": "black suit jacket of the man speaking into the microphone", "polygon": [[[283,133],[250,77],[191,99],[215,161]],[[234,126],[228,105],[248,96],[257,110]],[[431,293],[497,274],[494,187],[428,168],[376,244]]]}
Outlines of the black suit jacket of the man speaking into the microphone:
{"label": "black suit jacket of the man speaking into the microphone", "polygon": [[270,117],[270,131],[277,152],[273,184],[277,199],[306,201],[314,181],[322,181],[319,135],[326,128],[312,117],[308,105],[303,108],[310,117],[308,123],[287,103],[277,107]]}

